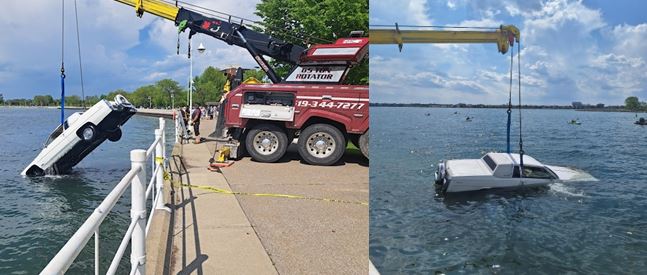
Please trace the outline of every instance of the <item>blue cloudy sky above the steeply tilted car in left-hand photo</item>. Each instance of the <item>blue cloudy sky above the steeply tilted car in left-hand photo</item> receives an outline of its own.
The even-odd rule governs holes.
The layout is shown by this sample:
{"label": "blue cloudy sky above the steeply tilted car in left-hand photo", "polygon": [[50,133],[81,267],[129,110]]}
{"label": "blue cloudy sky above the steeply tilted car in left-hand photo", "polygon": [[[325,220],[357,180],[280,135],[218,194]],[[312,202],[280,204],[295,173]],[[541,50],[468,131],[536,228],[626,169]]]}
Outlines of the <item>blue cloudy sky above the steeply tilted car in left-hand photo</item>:
{"label": "blue cloudy sky above the steeply tilted car in left-hand photo", "polygon": [[[195,1],[236,16],[258,20],[253,13],[259,0]],[[78,0],[79,32],[86,95],[116,89],[132,91],[171,78],[187,86],[188,31],[180,35],[173,22],[144,14],[108,0]],[[74,1],[65,0],[66,95],[81,95]],[[60,98],[61,1],[10,0],[0,8],[0,94],[5,99],[50,94]],[[203,43],[206,51],[195,49]],[[194,75],[207,66],[253,68],[256,62],[243,48],[211,37],[193,37]]]}

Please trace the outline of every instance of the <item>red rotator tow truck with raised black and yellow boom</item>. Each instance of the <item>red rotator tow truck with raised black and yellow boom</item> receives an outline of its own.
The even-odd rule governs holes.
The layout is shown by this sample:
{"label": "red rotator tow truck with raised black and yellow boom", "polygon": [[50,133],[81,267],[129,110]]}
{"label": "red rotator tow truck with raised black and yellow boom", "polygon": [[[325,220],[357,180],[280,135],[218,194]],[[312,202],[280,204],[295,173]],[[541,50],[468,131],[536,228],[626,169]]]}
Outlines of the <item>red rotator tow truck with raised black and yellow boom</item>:
{"label": "red rotator tow truck with raised black and yellow boom", "polygon": [[[368,157],[368,86],[342,84],[350,68],[368,54],[363,32],[304,48],[252,30],[242,20],[232,22],[231,16],[209,17],[160,1],[116,1],[135,7],[140,16],[148,12],[174,21],[178,32],[189,30],[189,39],[202,33],[247,49],[272,81],[231,83],[232,90],[219,107],[216,131],[210,135],[220,142],[218,148],[229,148],[231,157],[239,157],[244,145],[254,160],[276,162],[295,138],[299,154],[310,164],[337,163],[349,140]],[[265,57],[292,65],[291,72],[282,79]]]}

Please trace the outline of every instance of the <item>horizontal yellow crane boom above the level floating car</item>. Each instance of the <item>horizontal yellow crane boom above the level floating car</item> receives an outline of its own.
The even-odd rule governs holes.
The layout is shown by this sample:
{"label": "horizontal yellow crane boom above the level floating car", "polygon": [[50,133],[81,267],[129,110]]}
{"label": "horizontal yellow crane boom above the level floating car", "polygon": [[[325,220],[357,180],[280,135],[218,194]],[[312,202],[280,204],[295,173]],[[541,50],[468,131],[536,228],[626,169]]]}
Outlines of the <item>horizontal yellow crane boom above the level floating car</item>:
{"label": "horizontal yellow crane boom above the level floating car", "polygon": [[494,31],[400,30],[396,25],[395,29],[371,29],[369,34],[371,44],[398,44],[400,49],[404,43],[496,43],[501,53],[520,38],[519,29],[512,25]]}

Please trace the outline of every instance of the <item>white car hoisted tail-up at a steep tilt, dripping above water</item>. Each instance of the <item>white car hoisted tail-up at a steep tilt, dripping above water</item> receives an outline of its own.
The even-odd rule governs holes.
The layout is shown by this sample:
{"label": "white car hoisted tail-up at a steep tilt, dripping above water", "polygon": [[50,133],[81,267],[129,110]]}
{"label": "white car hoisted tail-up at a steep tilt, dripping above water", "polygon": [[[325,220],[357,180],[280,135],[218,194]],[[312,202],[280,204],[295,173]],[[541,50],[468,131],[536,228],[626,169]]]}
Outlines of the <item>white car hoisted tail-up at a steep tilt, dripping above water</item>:
{"label": "white car hoisted tail-up at a steep tilt, dripping above water", "polygon": [[78,164],[106,139],[121,139],[121,125],[137,112],[128,100],[115,96],[102,99],[84,112],[70,115],[45,142],[43,150],[25,170],[24,176],[63,174]]}

